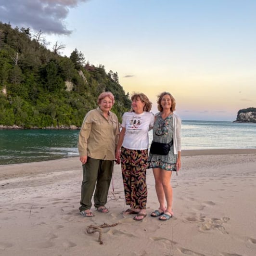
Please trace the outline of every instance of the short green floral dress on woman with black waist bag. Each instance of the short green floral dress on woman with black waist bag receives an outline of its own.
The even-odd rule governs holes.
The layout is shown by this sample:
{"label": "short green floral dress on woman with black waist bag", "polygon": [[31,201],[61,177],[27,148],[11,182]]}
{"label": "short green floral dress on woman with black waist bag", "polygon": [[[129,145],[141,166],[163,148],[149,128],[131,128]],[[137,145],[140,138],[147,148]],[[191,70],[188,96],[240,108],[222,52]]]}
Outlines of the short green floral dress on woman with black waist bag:
{"label": "short green floral dress on woman with black waist bag", "polygon": [[[169,143],[173,139],[173,115],[163,119],[161,113],[157,115],[153,128],[153,141]],[[148,156],[148,168],[162,168],[173,171],[176,166],[177,154],[173,153],[173,146],[167,155],[151,154]]]}

